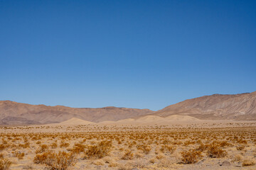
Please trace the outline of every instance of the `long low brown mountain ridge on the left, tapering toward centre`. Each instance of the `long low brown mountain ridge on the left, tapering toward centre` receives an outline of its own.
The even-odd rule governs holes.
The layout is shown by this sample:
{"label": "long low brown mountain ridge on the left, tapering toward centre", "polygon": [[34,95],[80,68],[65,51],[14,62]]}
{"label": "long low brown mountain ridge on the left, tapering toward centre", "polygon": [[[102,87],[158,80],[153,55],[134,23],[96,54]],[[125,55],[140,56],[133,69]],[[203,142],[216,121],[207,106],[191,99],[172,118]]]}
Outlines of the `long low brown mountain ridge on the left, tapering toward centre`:
{"label": "long low brown mountain ridge on the left, tapering toward centre", "polygon": [[69,108],[65,106],[45,106],[0,101],[0,125],[60,123],[70,118],[80,118],[91,122],[121,120],[154,113],[149,109],[137,108]]}

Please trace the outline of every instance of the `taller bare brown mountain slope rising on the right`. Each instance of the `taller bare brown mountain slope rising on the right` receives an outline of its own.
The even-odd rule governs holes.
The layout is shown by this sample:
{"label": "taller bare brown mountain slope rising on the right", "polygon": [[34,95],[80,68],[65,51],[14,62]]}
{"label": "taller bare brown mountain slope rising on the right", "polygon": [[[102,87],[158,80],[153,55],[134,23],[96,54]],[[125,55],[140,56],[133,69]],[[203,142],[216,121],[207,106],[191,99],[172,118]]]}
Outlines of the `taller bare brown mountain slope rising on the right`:
{"label": "taller bare brown mountain slope rising on the right", "polygon": [[211,120],[256,120],[256,91],[250,94],[213,94],[192,98],[167,106],[154,115],[190,115]]}

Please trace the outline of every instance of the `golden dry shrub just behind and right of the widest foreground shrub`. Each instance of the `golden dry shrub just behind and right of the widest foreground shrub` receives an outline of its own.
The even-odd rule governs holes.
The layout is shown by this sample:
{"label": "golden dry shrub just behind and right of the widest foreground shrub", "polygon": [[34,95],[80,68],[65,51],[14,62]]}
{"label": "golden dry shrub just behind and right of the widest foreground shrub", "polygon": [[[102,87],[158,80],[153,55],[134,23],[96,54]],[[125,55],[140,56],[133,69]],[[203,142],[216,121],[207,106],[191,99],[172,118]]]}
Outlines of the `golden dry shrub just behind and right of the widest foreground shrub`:
{"label": "golden dry shrub just behind and right of the widest foreground shrub", "polygon": [[91,158],[102,158],[110,154],[110,149],[112,147],[112,141],[103,140],[98,142],[96,145],[90,145],[85,151],[85,159]]}

